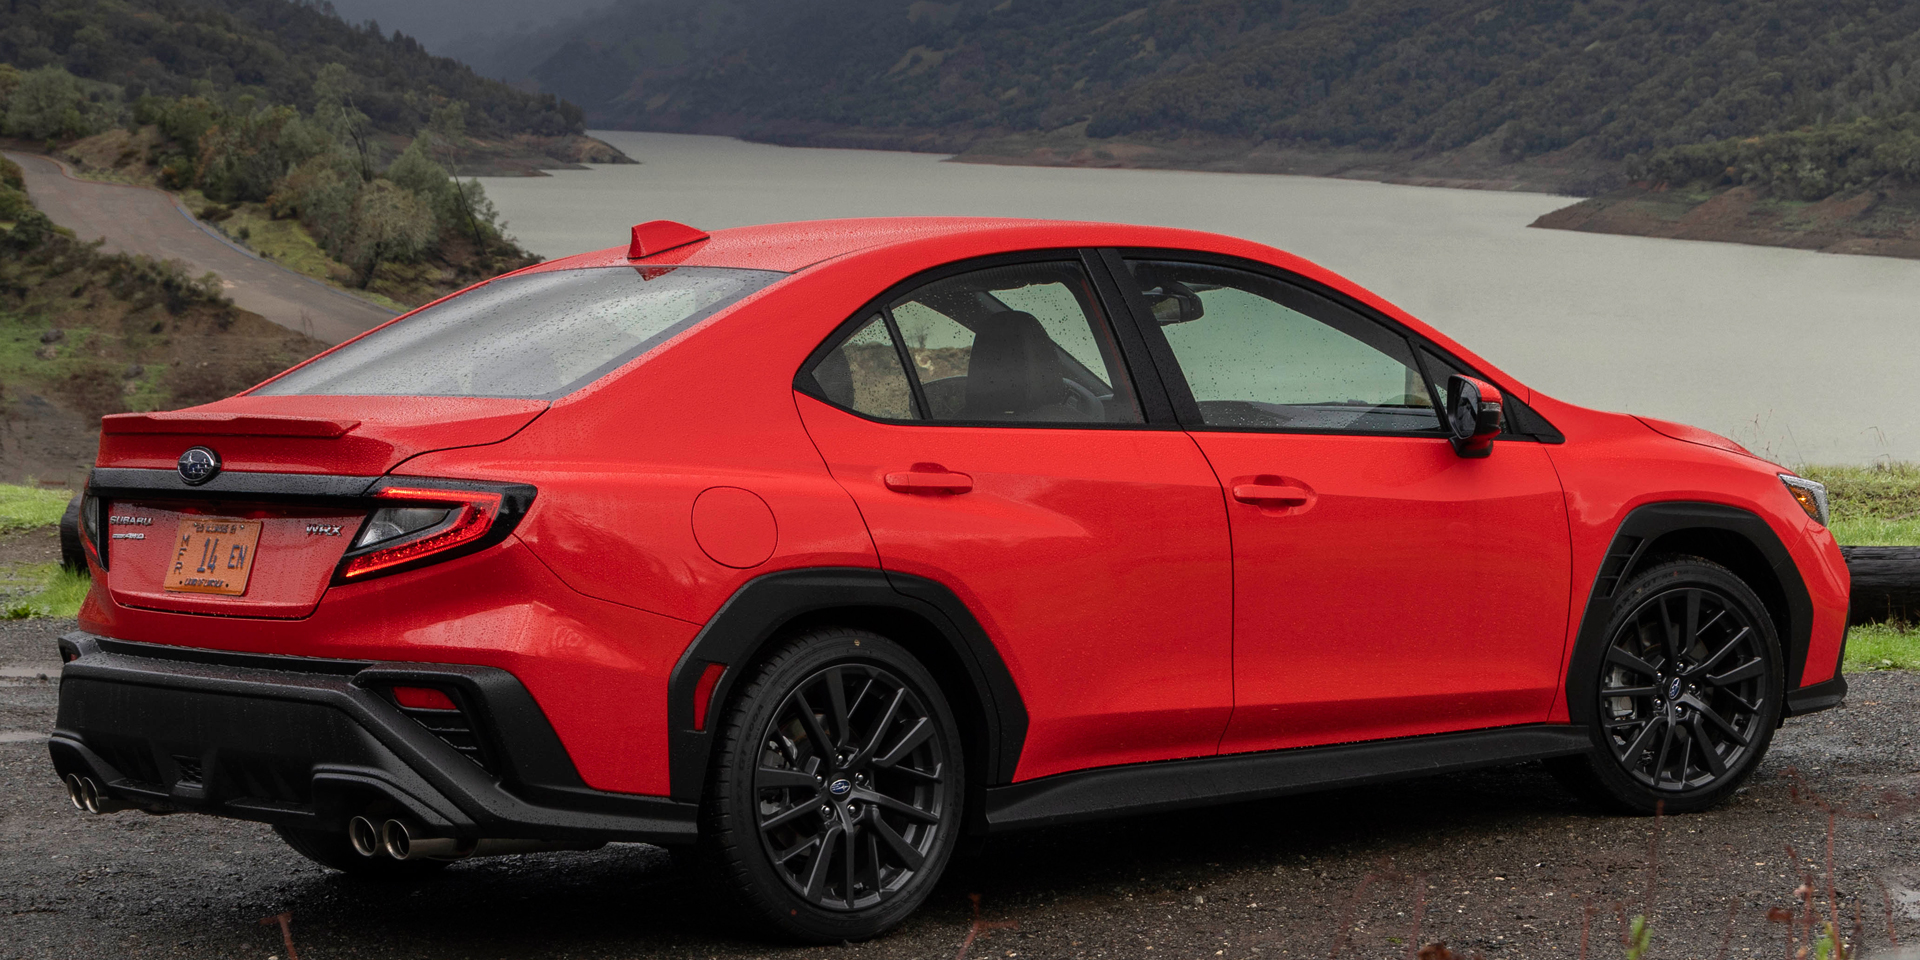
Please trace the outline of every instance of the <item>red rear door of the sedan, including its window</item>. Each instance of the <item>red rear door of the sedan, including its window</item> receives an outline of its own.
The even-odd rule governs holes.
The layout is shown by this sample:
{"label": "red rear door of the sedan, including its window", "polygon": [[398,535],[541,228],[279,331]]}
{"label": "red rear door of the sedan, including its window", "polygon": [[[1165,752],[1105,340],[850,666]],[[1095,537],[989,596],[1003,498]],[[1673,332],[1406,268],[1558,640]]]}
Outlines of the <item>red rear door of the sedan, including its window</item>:
{"label": "red rear door of the sedan, including its window", "polygon": [[1075,253],[904,284],[799,386],[881,564],[947,584],[1000,649],[1029,714],[1020,780],[1215,753],[1233,705],[1219,486],[1177,424],[1142,417]]}

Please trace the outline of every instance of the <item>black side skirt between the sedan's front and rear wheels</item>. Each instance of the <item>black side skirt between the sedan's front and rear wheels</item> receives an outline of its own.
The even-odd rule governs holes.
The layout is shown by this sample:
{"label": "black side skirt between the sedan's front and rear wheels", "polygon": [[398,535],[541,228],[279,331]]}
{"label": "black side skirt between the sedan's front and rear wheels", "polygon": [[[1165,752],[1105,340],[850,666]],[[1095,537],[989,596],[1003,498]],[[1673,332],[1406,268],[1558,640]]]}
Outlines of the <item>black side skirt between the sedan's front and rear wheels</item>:
{"label": "black side skirt between the sedan's front and rear wheels", "polygon": [[987,829],[1106,820],[1452,774],[1590,751],[1586,728],[1532,724],[1467,733],[1108,766],[987,789]]}

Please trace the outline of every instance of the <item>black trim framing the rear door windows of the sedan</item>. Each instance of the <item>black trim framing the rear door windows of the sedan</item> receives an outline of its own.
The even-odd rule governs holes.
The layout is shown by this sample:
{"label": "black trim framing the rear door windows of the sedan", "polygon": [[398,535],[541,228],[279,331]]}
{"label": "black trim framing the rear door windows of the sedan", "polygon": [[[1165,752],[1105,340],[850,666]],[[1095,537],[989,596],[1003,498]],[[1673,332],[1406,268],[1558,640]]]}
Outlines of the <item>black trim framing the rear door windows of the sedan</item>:
{"label": "black trim framing the rear door windows of the sedan", "polygon": [[[960,276],[966,273],[991,271],[995,267],[1016,267],[1021,263],[1073,263],[1085,275],[1087,282],[1092,286],[1091,298],[1092,305],[1100,309],[1106,317],[1106,324],[1114,334],[1114,348],[1121,369],[1116,371],[1119,376],[1127,376],[1133,386],[1135,401],[1140,405],[1142,422],[1050,422],[1050,420],[933,420],[927,417],[925,392],[920,386],[920,376],[914,371],[912,359],[906,355],[906,340],[900,336],[899,326],[893,321],[893,311],[889,305],[904,294],[920,290],[922,286],[947,280],[950,276]],[[799,371],[793,374],[793,390],[808,397],[818,399],[837,411],[851,413],[868,422],[897,424],[897,426],[1000,426],[1000,428],[1035,428],[1035,430],[1183,430],[1179,420],[1173,417],[1173,403],[1165,396],[1165,386],[1160,382],[1158,371],[1140,359],[1137,353],[1140,344],[1135,340],[1139,332],[1133,328],[1133,315],[1125,303],[1116,303],[1112,298],[1116,294],[1114,280],[1106,276],[1106,267],[1098,257],[1087,248],[1039,248],[1021,250],[1012,253],[991,253],[985,257],[958,259],[952,263],[943,263],[910,275],[852,311],[839,326],[833,328],[806,357],[801,361]],[[900,353],[902,372],[906,374],[908,390],[914,396],[914,409],[922,415],[918,420],[899,420],[887,417],[874,417],[851,407],[843,407],[826,397],[820,384],[814,382],[814,367],[826,359],[828,353],[839,349],[847,338],[860,332],[868,321],[879,315],[887,324],[887,334],[893,338],[895,353]],[[1154,376],[1146,376],[1146,374]]]}

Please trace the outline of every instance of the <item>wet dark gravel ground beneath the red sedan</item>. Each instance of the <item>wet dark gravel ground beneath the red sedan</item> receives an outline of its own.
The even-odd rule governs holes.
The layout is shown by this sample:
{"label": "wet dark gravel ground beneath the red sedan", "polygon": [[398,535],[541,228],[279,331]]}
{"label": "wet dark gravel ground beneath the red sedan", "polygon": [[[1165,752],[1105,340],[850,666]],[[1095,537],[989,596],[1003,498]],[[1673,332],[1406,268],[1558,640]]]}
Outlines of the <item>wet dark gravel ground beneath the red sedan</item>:
{"label": "wet dark gravel ground beneath the red sedan", "polygon": [[[1590,918],[1590,956],[1620,956],[1620,910],[1644,912],[1649,881],[1649,958],[1715,958],[1722,943],[1724,956],[1784,956],[1786,927],[1766,910],[1791,906],[1803,874],[1824,876],[1822,801],[1841,812],[1843,925],[1859,912],[1870,956],[1889,924],[1920,943],[1920,674],[1855,676],[1845,708],[1788,722],[1751,785],[1709,814],[1607,816],[1523,766],[1062,828],[958,862],[885,939],[793,950],[739,937],[645,845],[371,885],[255,824],[79,814],[40,739],[58,687],[35,678],[58,678],[54,637],[71,626],[0,622],[0,956],[280,958],[280,914],[307,960],[945,958],[964,947],[973,958],[1400,958],[1417,916],[1421,941],[1488,958],[1580,956]],[[1814,887],[1824,899],[1824,879]]]}

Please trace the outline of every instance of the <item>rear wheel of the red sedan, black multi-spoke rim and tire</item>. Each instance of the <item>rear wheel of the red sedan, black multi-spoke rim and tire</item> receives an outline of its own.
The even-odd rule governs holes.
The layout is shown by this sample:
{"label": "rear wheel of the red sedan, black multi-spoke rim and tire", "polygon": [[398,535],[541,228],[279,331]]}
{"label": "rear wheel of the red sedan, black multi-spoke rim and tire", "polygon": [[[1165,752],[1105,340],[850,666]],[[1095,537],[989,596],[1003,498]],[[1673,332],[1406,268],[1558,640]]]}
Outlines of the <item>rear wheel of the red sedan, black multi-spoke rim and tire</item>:
{"label": "rear wheel of the red sedan, black multi-spoke rim and tire", "polygon": [[804,634],[751,674],[718,735],[697,868],[745,918],[781,939],[864,941],[927,899],[966,768],[947,697],[900,645]]}

